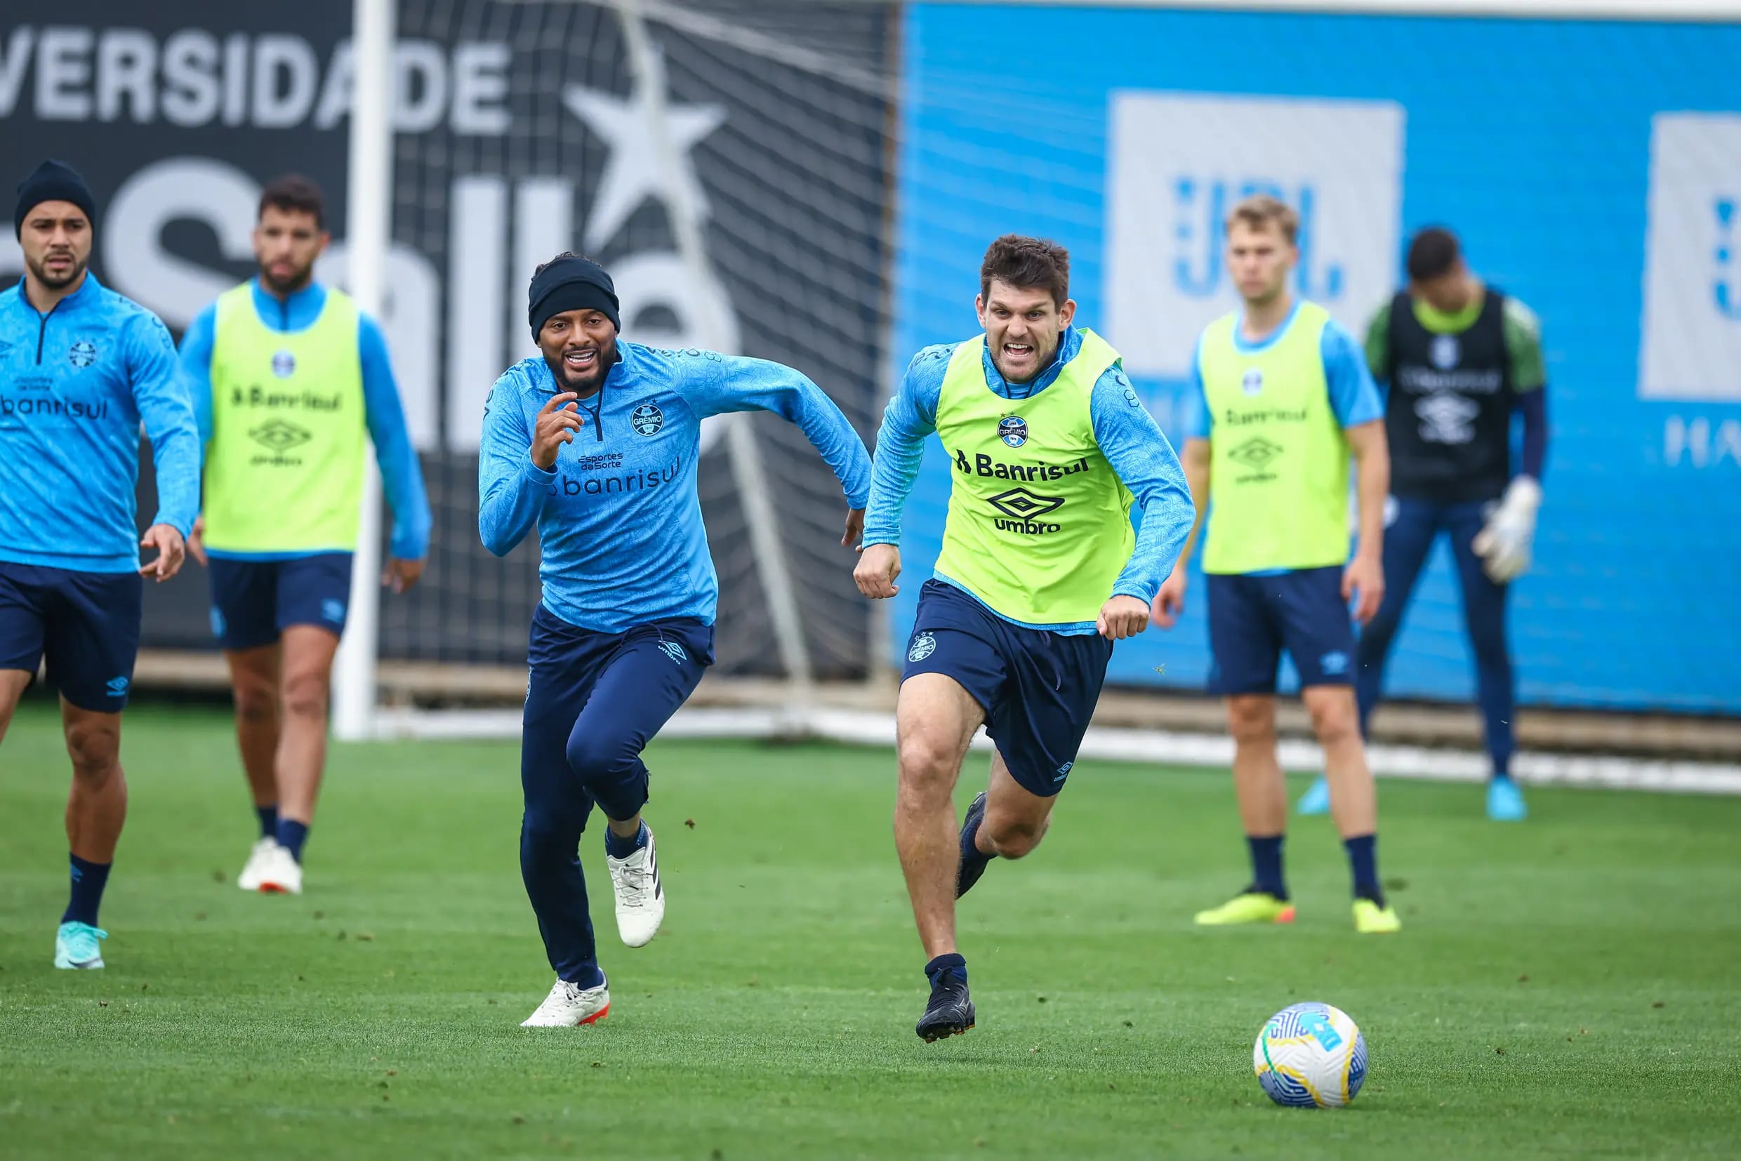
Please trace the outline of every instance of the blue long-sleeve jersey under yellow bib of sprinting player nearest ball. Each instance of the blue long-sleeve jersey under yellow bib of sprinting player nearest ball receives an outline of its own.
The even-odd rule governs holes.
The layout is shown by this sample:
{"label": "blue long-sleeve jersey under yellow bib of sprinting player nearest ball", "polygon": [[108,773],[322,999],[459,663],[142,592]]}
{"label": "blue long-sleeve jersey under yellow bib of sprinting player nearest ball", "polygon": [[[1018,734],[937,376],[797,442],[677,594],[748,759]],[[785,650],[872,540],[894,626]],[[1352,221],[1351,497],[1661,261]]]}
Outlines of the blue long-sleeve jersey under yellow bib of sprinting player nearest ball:
{"label": "blue long-sleeve jersey under yellow bib of sprinting player nearest ball", "polygon": [[[1005,379],[987,348],[980,357],[985,388],[1005,399],[1032,399],[1057,381],[1064,364],[1081,350],[1081,332],[1069,327],[1059,343],[1057,357],[1027,383]],[[954,343],[944,345],[947,350],[954,346]],[[912,357],[907,374],[900,379],[900,388],[883,411],[870,477],[870,508],[865,512],[865,545],[900,543],[900,513],[907,505],[912,482],[919,479],[924,437],[937,432],[937,399],[944,390],[944,374],[949,371],[949,359],[926,355],[944,348],[926,348]],[[1179,560],[1179,552],[1191,533],[1191,522],[1196,519],[1191,487],[1186,484],[1186,473],[1179,466],[1179,456],[1172,444],[1156,426],[1154,416],[1137,399],[1137,392],[1130,386],[1121,367],[1107,367],[1095,379],[1088,395],[1088,418],[1107,465],[1137,498],[1137,507],[1142,508],[1137,547],[1107,597],[1125,595],[1154,601],[1161,581],[1173,571],[1173,562]],[[937,574],[937,580],[966,592],[965,587],[942,573]],[[1003,616],[996,609],[991,611],[1024,628],[1046,628],[1057,634],[1095,632],[1093,621],[1027,625]]]}

